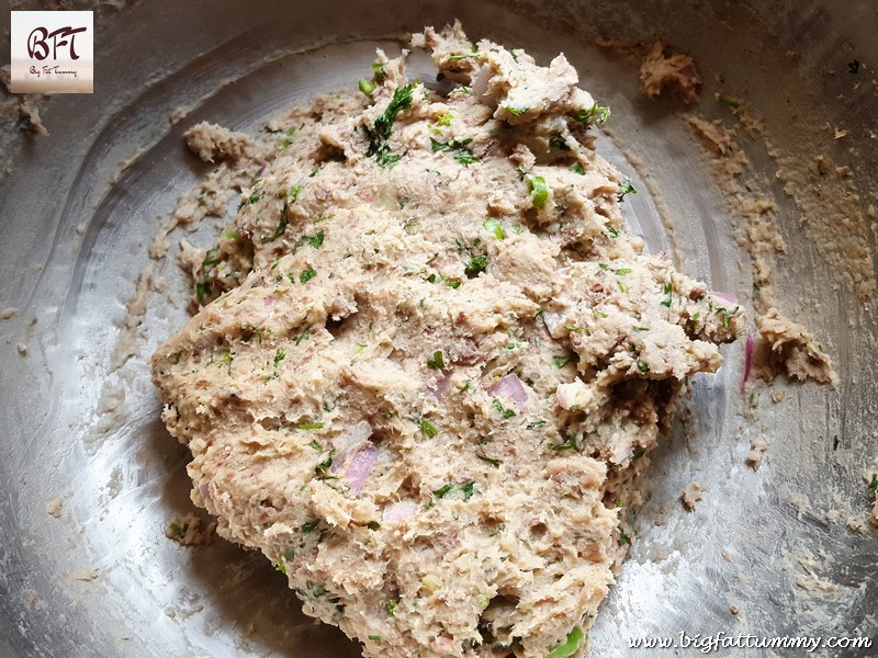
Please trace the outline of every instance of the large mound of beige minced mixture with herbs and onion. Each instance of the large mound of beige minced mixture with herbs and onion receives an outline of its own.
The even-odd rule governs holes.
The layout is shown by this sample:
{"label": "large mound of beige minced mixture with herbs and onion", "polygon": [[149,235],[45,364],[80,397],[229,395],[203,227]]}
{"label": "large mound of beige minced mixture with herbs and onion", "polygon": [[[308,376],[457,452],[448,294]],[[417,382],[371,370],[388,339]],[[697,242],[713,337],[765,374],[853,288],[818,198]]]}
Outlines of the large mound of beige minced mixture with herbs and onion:
{"label": "large mound of beige minced mixture with herbs and onion", "polygon": [[609,110],[563,55],[412,45],[439,89],[379,52],[258,138],[188,133],[223,163],[178,219],[223,177],[241,196],[184,251],[162,419],[217,532],[365,656],[582,656],[635,480],[744,319],[626,228]]}

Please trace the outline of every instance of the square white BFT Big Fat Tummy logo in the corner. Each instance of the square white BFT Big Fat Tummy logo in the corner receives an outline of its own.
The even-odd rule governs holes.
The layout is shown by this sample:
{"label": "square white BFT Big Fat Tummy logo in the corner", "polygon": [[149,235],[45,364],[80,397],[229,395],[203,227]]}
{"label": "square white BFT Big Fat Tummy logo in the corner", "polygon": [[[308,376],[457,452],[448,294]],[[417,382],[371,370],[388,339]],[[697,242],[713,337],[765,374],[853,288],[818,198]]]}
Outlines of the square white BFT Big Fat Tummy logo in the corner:
{"label": "square white BFT Big Fat Tummy logo in the corner", "polygon": [[92,93],[94,19],[90,11],[13,11],[10,91]]}

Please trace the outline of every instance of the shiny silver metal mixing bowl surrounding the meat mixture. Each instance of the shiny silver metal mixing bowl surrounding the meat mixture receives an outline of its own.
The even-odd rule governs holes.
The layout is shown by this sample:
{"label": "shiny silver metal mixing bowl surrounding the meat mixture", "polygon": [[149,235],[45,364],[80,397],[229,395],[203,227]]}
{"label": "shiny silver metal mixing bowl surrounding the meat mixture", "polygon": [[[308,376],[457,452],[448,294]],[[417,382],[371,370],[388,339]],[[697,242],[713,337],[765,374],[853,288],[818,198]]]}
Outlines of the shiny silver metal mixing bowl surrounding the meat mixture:
{"label": "shiny silver metal mixing bowl surrounding the meat mixture", "polygon": [[[471,35],[543,61],[564,52],[581,84],[614,110],[612,138],[601,137],[599,150],[639,189],[632,226],[651,250],[673,247],[687,273],[746,297],[748,258],[683,111],[639,95],[637,68],[593,45],[597,35],[661,36],[702,71],[698,112],[728,122],[711,91],[745,99],[778,149],[849,164],[860,212],[876,203],[878,7],[868,0],[119,4],[95,8],[94,94],[41,101],[48,137],[8,122],[0,133],[9,167],[0,173],[0,308],[20,309],[0,321],[2,656],[359,655],[339,632],[302,615],[260,555],[165,537],[168,522],[192,508],[187,451],[158,420],[145,365],[187,317],[187,284],[172,258],[154,263],[167,292],[149,296],[140,356],[109,373],[146,247],[205,170],[183,146],[193,123],[257,131],[293,101],[356,84],[376,45],[398,47],[387,37],[459,18]],[[0,21],[5,39],[9,13]],[[431,76],[423,59],[414,68]],[[179,106],[192,109],[171,125]],[[824,122],[848,135],[833,139]],[[594,629],[597,656],[639,655],[628,637],[682,631],[870,636],[870,649],[823,654],[878,655],[878,534],[826,518],[869,507],[863,470],[878,454],[874,306],[857,300],[808,239],[764,146],[742,141],[779,206],[789,247],[778,257],[778,304],[820,337],[841,383],[837,392],[776,384],[781,401],[761,389],[751,408],[739,389],[740,344],[724,352],[721,374],[698,381],[655,455],[629,561]],[[875,219],[866,223],[874,249]],[[207,232],[187,237],[209,241]],[[762,435],[769,447],[754,470],[745,456]],[[693,480],[707,491],[686,512],[678,499]],[[46,511],[56,497],[59,518]]]}

